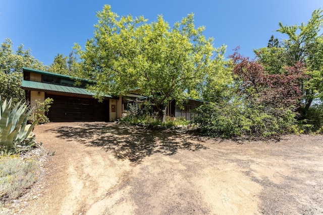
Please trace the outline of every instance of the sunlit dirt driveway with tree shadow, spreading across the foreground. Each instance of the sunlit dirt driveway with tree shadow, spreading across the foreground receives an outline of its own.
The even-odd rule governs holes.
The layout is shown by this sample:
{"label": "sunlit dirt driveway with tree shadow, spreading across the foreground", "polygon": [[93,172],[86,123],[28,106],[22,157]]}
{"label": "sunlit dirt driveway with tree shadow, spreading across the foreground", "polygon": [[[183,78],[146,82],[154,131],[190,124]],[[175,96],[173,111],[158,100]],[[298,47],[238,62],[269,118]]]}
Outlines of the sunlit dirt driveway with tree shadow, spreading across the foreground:
{"label": "sunlit dirt driveway with tree shadow, spreading across the foreground", "polygon": [[234,142],[114,123],[34,130],[48,156],[23,214],[321,214],[323,136]]}

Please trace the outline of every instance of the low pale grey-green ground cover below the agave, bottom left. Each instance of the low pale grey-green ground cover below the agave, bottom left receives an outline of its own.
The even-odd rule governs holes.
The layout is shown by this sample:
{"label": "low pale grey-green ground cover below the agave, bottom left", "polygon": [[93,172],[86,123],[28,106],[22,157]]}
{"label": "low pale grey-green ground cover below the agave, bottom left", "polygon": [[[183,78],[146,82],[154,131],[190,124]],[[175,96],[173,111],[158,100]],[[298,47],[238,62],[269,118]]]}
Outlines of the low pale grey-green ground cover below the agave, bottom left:
{"label": "low pale grey-green ground cover below the agave, bottom left", "polygon": [[36,163],[0,156],[0,206],[19,197],[36,181]]}

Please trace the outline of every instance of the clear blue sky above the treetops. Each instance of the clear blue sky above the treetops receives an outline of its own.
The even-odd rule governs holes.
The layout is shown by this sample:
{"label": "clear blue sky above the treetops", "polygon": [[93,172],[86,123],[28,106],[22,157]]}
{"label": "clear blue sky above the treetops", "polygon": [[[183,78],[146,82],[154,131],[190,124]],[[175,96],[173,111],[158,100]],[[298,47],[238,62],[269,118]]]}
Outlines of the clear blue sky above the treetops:
{"label": "clear blue sky above the treetops", "polygon": [[96,12],[111,5],[119,16],[143,15],[148,22],[157,15],[173,26],[189,13],[195,14],[195,26],[205,26],[204,35],[214,38],[214,46],[226,44],[226,56],[237,46],[245,56],[253,57],[253,48],[267,45],[278,23],[307,23],[311,13],[322,8],[321,0],[0,0],[0,42],[10,38],[14,47],[23,44],[36,59],[49,65],[58,53],[69,55],[74,43],[82,47],[93,37]]}

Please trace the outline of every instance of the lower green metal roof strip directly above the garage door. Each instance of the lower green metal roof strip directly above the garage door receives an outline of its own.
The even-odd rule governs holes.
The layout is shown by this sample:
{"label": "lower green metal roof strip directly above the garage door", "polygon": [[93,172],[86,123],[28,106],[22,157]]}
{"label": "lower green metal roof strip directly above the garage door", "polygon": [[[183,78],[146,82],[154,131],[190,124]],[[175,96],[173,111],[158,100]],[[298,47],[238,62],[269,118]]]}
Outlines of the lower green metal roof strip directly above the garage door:
{"label": "lower green metal roof strip directly above the garage door", "polygon": [[[94,96],[94,93],[91,93],[84,88],[47,84],[42,82],[32,82],[32,81],[26,81],[26,80],[22,81],[21,87],[24,90],[39,90],[39,91],[50,91],[50,92],[61,92],[61,93]],[[112,98],[112,96],[109,96],[109,95],[106,95],[105,97]]]}

